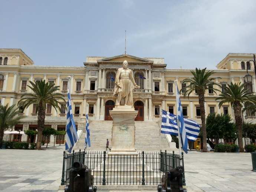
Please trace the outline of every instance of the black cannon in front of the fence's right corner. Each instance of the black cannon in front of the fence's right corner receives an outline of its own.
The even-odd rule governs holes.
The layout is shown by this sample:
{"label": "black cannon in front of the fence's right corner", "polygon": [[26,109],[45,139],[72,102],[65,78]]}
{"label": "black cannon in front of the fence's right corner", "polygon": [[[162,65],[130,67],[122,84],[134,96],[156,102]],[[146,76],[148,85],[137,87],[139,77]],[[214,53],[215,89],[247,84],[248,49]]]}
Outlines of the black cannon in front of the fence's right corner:
{"label": "black cannon in front of the fence's right corner", "polygon": [[177,168],[171,169],[165,172],[162,176],[161,185],[158,185],[158,192],[187,192],[183,189],[182,179],[183,179],[183,167],[177,166]]}

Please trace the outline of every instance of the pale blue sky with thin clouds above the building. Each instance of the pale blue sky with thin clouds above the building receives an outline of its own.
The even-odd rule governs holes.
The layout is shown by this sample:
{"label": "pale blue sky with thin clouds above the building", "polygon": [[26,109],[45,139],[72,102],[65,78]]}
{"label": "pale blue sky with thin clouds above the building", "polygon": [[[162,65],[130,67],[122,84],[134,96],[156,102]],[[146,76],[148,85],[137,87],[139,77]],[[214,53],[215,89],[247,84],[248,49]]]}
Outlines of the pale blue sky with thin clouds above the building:
{"label": "pale blue sky with thin clouds above the building", "polygon": [[214,69],[256,52],[256,1],[5,0],[0,47],[36,65],[83,66],[86,56],[164,57],[167,68]]}

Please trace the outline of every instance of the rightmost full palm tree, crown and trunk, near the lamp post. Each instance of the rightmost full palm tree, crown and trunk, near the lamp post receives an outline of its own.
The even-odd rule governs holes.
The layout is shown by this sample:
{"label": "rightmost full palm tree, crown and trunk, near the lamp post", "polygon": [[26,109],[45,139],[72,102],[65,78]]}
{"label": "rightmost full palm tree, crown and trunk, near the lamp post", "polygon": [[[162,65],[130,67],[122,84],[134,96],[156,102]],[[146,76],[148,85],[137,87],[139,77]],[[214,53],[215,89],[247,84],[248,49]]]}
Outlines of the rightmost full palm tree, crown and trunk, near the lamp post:
{"label": "rightmost full palm tree, crown and trunk, near the lamp post", "polygon": [[248,89],[244,88],[244,84],[239,83],[230,83],[227,87],[224,88],[224,92],[222,92],[219,97],[215,100],[221,100],[219,103],[219,107],[221,107],[224,103],[230,103],[232,108],[234,109],[234,116],[236,120],[236,128],[238,132],[238,145],[239,151],[244,152],[243,149],[243,120],[242,120],[242,104],[244,103],[255,103],[256,96],[252,95],[252,93],[248,92]]}

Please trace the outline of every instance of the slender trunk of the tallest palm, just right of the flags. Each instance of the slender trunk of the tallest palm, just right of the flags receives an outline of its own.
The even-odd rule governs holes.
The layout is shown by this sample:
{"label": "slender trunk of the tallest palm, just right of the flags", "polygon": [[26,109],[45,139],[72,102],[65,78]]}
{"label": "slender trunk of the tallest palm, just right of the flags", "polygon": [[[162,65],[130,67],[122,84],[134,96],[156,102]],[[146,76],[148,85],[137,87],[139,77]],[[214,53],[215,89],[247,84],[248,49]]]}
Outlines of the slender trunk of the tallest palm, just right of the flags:
{"label": "slender trunk of the tallest palm, just right of the flags", "polygon": [[202,121],[203,152],[207,152],[205,109],[204,109],[204,92],[203,92],[203,90],[198,90],[198,98],[199,98],[201,121]]}

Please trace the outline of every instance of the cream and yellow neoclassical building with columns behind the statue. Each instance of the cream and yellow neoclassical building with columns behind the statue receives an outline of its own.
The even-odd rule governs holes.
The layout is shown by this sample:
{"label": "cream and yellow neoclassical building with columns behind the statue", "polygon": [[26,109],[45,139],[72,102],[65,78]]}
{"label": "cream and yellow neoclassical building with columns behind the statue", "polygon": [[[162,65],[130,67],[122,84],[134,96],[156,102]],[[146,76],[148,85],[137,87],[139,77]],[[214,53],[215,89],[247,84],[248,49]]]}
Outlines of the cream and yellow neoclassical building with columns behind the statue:
{"label": "cream and yellow neoclassical building with columns behind the statue", "polygon": [[[229,53],[217,64],[214,77],[222,87],[230,82],[243,82],[246,75],[246,62],[253,58],[253,54]],[[138,110],[135,120],[158,120],[161,109],[175,113],[175,89],[174,80],[178,81],[181,89],[186,86],[185,78],[191,77],[187,69],[166,69],[164,58],[141,58],[122,54],[114,57],[86,57],[81,67],[67,66],[37,66],[32,59],[21,49],[0,49],[0,102],[2,105],[17,104],[23,93],[31,92],[29,81],[46,80],[60,86],[60,93],[67,97],[68,76],[71,76],[70,92],[72,97],[72,109],[75,123],[78,129],[84,129],[85,115],[93,120],[112,120],[109,110],[115,106],[116,98],[113,96],[116,70],[122,66],[124,60],[129,63],[129,68],[134,74],[134,79],[140,89],[134,90],[134,107]],[[170,63],[171,64],[171,63]],[[175,66],[171,64],[171,66]],[[191,67],[194,69],[196,65]],[[253,76],[252,83],[247,85],[250,91],[256,91],[256,80],[253,70],[248,70]],[[142,78],[142,77],[145,77]],[[216,87],[217,88],[217,87]],[[209,113],[230,114],[234,113],[226,103],[221,108],[215,101],[216,94],[210,88],[205,94],[206,115]],[[198,96],[193,93],[190,98],[181,98],[183,115],[201,123]],[[26,116],[16,130],[37,128],[37,114],[35,106],[27,109],[20,108],[20,115]],[[58,130],[65,130],[66,111],[56,112],[50,105],[46,109],[45,125]],[[245,120],[255,120],[255,114],[245,112]],[[32,139],[32,138],[30,138]],[[35,138],[34,138],[35,139]],[[22,140],[27,140],[23,136]],[[32,139],[33,140],[33,139]],[[58,142],[58,141],[57,141]],[[62,141],[59,141],[62,142]]]}

